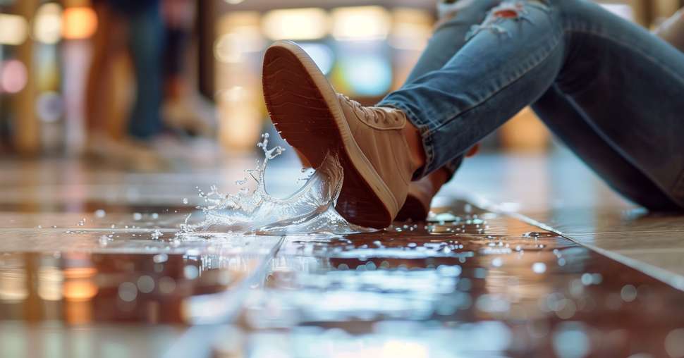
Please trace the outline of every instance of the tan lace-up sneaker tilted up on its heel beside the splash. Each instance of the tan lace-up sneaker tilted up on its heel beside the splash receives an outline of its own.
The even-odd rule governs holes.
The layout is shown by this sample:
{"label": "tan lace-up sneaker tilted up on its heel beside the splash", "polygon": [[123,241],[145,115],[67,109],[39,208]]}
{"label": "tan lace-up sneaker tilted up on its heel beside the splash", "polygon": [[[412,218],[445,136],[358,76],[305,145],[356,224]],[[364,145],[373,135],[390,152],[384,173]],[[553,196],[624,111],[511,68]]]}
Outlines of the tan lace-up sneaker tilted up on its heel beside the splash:
{"label": "tan lace-up sneaker tilted up on its heel beside the splash", "polygon": [[338,213],[360,226],[389,226],[417,170],[402,131],[405,114],[336,93],[294,42],[269,47],[263,76],[264,99],[282,137],[314,168],[338,153],[344,170]]}

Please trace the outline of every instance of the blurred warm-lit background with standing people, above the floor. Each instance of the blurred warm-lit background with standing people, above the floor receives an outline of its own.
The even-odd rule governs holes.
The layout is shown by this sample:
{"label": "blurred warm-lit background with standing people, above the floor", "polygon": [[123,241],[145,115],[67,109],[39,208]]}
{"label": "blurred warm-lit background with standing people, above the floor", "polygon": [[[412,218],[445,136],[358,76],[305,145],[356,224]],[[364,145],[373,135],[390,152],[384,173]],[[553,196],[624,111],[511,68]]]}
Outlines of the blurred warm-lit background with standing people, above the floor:
{"label": "blurred warm-lit background with standing people, above the floor", "polygon": [[[0,154],[149,169],[176,154],[253,152],[270,126],[260,70],[272,41],[300,42],[336,90],[374,104],[417,61],[435,3],[0,0]],[[684,4],[601,5],[653,28]],[[554,147],[528,109],[483,143],[489,151]]]}

